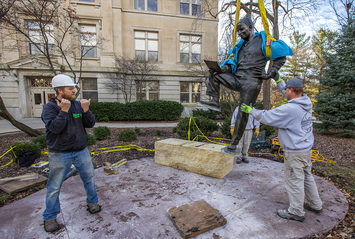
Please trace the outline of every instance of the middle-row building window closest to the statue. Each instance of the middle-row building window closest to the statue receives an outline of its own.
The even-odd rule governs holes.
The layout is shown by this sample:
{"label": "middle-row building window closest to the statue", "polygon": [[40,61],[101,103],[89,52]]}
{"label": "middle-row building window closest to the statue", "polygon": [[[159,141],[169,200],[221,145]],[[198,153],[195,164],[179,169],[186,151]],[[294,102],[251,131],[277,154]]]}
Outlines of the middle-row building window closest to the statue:
{"label": "middle-row building window closest to the statue", "polygon": [[201,62],[201,36],[180,34],[180,62]]}

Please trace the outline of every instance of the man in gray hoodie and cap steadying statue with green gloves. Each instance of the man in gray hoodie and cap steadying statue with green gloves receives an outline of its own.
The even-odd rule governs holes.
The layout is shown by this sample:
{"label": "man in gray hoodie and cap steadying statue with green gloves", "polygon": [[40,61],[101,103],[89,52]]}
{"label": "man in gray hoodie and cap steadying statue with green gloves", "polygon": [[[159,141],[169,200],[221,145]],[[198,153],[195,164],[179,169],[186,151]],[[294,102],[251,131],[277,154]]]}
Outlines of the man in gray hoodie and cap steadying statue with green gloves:
{"label": "man in gray hoodie and cap steadying statue with green gloves", "polygon": [[[279,128],[279,142],[284,151],[284,173],[290,207],[279,209],[280,217],[303,221],[303,209],[321,213],[322,201],[311,174],[313,146],[312,102],[302,93],[302,81],[293,78],[285,82],[277,73],[274,80],[288,103],[271,110],[257,110],[246,104],[241,110],[266,125]],[[307,203],[304,204],[306,196]]]}

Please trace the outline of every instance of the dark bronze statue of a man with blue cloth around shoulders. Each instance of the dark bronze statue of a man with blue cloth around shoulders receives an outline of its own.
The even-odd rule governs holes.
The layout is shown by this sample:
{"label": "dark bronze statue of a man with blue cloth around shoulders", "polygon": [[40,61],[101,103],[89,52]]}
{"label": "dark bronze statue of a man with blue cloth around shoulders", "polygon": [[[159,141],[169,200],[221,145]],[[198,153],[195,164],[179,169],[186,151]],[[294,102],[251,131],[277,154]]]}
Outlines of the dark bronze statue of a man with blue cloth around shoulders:
{"label": "dark bronze statue of a man with blue cloth around shoulders", "polygon": [[[207,106],[219,107],[220,84],[240,92],[239,107],[242,103],[253,106],[260,93],[263,79],[273,78],[275,72],[285,64],[286,56],[293,55],[292,49],[285,42],[271,41],[271,59],[273,67],[265,74],[266,63],[266,34],[254,32],[253,21],[249,17],[242,18],[236,25],[241,40],[228,52],[229,58],[221,64],[222,73],[209,69],[206,94],[212,100],[200,102]],[[237,144],[243,136],[248,122],[248,115],[239,110],[231,143],[225,153],[235,156]]]}

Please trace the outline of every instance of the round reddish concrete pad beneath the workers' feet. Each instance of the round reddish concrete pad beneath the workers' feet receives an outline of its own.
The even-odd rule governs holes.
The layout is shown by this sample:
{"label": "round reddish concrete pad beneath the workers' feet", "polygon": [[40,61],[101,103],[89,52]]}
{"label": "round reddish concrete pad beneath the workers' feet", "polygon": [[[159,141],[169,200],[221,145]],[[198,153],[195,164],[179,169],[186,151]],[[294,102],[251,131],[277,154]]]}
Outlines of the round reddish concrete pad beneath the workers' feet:
{"label": "round reddish concrete pad beneath the workers' feet", "polygon": [[[219,210],[227,224],[202,233],[198,239],[291,239],[327,232],[348,211],[348,201],[331,183],[315,176],[324,212],[307,211],[303,222],[283,219],[277,209],[287,208],[283,164],[260,158],[236,164],[223,179],[155,164],[154,158],[132,160],[117,175],[96,169],[98,214],[86,211],[86,195],[79,176],[64,182],[61,209],[70,239],[181,238],[166,210],[204,199]],[[61,229],[47,233],[42,213],[46,190],[0,208],[2,238],[68,238],[61,214]]]}

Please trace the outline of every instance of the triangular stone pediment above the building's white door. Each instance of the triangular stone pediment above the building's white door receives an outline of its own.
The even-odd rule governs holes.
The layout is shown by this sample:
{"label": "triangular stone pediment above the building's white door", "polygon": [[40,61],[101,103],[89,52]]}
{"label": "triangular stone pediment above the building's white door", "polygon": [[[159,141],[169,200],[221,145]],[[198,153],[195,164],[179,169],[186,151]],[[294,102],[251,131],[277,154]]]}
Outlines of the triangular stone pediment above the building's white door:
{"label": "triangular stone pediment above the building's white door", "polygon": [[[7,66],[10,69],[46,69],[51,70],[51,67],[46,59],[38,56],[29,56],[18,59],[16,61],[8,62]],[[53,63],[54,69],[60,70],[61,65]]]}

